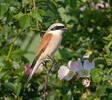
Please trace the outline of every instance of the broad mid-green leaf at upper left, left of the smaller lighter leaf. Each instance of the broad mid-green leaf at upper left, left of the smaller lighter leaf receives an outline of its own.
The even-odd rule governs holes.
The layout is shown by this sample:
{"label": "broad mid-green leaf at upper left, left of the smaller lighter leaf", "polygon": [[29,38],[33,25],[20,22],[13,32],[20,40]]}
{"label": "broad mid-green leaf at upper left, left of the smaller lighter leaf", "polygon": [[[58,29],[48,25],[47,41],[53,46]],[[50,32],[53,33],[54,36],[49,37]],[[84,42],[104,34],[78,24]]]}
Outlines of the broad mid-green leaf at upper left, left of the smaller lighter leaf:
{"label": "broad mid-green leaf at upper left, left of the smaller lighter leaf", "polygon": [[24,15],[19,19],[19,25],[24,30],[30,26],[30,16]]}

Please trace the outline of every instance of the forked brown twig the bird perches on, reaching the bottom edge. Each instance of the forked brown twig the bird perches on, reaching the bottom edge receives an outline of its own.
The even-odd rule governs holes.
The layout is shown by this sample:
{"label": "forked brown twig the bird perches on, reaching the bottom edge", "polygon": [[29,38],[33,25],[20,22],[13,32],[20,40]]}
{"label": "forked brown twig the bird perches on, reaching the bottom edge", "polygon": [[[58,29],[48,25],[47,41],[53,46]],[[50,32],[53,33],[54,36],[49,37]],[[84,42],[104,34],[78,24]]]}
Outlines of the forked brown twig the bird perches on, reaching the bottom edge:
{"label": "forked brown twig the bird perches on, reaching the bottom edge", "polygon": [[44,84],[44,100],[46,100],[46,96],[47,96],[47,82],[48,82],[48,76],[49,73],[51,72],[53,66],[55,65],[56,61],[52,60],[52,65],[49,69],[47,69],[47,64],[45,63],[45,68],[46,68],[46,76],[45,76],[45,84]]}

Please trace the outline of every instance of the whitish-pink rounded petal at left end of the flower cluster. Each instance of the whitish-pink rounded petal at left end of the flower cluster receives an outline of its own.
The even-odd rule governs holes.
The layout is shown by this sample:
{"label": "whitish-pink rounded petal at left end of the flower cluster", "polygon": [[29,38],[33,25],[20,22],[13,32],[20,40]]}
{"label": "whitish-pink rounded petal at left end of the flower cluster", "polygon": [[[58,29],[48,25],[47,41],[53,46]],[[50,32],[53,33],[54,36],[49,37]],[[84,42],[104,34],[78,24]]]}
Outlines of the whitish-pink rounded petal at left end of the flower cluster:
{"label": "whitish-pink rounded petal at left end of the flower cluster", "polygon": [[58,70],[58,78],[60,80],[64,79],[64,77],[68,74],[69,72],[69,68],[67,68],[66,66],[62,65],[59,70]]}

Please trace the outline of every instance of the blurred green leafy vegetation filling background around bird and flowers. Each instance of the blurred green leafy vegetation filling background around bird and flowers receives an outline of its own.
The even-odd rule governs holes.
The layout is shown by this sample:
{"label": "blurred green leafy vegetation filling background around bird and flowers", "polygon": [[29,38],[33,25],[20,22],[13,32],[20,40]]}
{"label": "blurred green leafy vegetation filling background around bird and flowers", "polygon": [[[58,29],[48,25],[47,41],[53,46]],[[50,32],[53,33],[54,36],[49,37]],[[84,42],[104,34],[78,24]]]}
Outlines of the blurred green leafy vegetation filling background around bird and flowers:
{"label": "blurred green leafy vegetation filling background around bird and flowers", "polygon": [[[45,71],[35,74],[24,92],[28,78],[24,64],[31,64],[36,53],[38,24],[44,34],[55,22],[68,30],[54,55],[58,63],[49,75],[47,100],[112,100],[112,1],[35,1],[34,10],[33,0],[0,0],[0,100],[42,100]],[[75,78],[69,82],[57,78],[60,65],[83,61],[88,51],[96,67],[90,87]]]}

